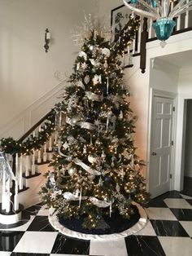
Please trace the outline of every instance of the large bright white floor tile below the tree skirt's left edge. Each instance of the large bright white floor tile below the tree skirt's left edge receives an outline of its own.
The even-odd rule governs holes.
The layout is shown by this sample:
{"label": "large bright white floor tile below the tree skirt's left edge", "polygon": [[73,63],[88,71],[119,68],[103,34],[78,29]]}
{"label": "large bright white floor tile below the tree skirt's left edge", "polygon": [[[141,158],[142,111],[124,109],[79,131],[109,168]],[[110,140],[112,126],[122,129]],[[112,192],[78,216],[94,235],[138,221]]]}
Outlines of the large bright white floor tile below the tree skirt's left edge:
{"label": "large bright white floor tile below the tree skirt's left edge", "polygon": [[58,232],[25,232],[14,252],[50,254]]}

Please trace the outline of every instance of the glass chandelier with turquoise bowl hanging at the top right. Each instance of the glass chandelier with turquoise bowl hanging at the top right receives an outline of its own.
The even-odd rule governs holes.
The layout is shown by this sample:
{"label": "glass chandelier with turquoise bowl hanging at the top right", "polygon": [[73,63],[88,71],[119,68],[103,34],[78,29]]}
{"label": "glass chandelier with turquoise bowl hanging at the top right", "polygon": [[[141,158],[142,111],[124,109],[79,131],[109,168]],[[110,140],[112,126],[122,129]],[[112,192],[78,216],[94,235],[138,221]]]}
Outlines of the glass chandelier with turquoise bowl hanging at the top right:
{"label": "glass chandelier with turquoise bowl hanging at the top right", "polygon": [[192,10],[192,0],[178,0],[175,7],[171,10],[170,0],[123,0],[124,6],[138,15],[150,17],[155,21],[153,28],[155,29],[156,37],[161,41],[160,45],[165,46],[176,22],[172,20],[174,17],[181,15],[185,11]]}

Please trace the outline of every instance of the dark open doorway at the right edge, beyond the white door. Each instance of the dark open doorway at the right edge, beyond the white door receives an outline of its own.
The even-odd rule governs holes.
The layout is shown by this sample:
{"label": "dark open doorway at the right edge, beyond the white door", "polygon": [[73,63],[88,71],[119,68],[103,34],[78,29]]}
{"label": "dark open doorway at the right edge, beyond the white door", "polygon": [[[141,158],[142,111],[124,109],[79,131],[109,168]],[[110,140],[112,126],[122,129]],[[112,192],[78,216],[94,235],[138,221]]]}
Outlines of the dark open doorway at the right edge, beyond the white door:
{"label": "dark open doorway at the right edge, beyond the white door", "polygon": [[184,182],[182,193],[192,196],[192,99],[185,99],[185,152],[184,156]]}

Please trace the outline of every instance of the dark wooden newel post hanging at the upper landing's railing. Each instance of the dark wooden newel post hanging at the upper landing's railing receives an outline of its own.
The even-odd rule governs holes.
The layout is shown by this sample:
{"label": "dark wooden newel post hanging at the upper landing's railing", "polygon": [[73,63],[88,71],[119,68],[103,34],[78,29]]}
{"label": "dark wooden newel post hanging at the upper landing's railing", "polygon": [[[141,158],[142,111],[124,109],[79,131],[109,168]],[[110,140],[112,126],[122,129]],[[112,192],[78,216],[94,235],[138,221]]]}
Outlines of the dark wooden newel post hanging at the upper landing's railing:
{"label": "dark wooden newel post hanging at the upper landing's railing", "polygon": [[142,73],[146,72],[146,40],[148,39],[147,31],[147,18],[143,19],[142,25],[142,37],[141,37],[141,58],[140,58],[140,68]]}

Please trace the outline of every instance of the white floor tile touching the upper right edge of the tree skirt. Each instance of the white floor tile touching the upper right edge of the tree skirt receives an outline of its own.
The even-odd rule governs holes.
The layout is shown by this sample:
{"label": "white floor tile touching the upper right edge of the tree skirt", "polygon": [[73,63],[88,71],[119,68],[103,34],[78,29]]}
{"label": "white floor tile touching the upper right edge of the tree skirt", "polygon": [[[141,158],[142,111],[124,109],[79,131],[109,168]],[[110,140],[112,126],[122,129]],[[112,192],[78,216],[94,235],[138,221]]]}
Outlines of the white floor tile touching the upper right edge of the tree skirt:
{"label": "white floor tile touching the upper right edge of the tree skirt", "polygon": [[168,208],[149,207],[145,210],[150,219],[177,220]]}

